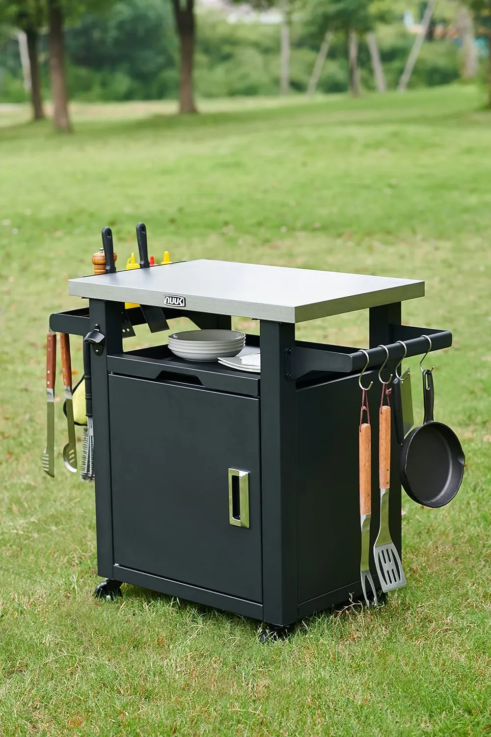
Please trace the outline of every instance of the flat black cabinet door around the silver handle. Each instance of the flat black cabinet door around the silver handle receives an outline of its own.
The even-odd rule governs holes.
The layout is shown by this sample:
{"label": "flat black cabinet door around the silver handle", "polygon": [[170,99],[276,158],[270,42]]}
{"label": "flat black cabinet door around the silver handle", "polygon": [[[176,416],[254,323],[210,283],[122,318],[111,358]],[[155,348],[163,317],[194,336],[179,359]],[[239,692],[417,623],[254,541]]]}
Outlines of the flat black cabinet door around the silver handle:
{"label": "flat black cabinet door around the silver handle", "polygon": [[[114,561],[261,602],[258,399],[121,376],[109,391]],[[229,469],[249,472],[248,528],[230,524],[247,490],[230,478],[229,506]]]}

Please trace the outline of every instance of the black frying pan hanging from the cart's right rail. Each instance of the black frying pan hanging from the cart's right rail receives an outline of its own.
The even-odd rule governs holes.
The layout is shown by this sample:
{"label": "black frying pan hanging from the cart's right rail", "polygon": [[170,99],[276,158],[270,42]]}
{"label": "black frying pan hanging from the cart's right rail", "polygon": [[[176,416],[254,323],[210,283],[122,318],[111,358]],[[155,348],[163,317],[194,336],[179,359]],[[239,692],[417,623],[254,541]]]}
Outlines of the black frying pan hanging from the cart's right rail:
{"label": "black frying pan hanging from the cart's right rail", "polygon": [[453,430],[442,422],[434,422],[433,374],[428,368],[423,371],[423,400],[423,425],[411,430],[400,449],[400,482],[418,504],[440,507],[459,491],[465,457]]}

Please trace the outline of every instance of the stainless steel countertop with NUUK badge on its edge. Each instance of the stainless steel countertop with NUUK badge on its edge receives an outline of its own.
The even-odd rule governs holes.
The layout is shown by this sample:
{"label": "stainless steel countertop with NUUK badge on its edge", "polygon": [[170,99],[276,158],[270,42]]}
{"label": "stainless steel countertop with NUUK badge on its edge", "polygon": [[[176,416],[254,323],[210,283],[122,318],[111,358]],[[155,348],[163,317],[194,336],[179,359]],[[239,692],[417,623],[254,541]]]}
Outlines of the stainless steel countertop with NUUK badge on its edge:
{"label": "stainless steel countertop with NUUK badge on its edge", "polygon": [[70,279],[68,291],[78,297],[158,307],[177,296],[186,304],[182,299],[177,303],[192,312],[297,323],[423,297],[425,283],[199,259]]}

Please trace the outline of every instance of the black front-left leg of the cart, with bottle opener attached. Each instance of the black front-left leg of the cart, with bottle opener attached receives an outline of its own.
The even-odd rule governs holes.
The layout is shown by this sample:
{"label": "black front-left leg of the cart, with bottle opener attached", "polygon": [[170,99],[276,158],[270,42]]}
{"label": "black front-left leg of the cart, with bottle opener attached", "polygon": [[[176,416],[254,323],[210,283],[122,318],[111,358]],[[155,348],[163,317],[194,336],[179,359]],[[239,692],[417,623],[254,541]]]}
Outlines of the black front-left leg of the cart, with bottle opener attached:
{"label": "black front-left leg of the cart, with bottle opener attached", "polygon": [[92,352],[93,447],[96,487],[97,570],[107,579],[113,574],[113,508],[109,425],[109,385],[107,354],[121,353],[122,304],[91,299],[89,323],[105,336],[99,355]]}

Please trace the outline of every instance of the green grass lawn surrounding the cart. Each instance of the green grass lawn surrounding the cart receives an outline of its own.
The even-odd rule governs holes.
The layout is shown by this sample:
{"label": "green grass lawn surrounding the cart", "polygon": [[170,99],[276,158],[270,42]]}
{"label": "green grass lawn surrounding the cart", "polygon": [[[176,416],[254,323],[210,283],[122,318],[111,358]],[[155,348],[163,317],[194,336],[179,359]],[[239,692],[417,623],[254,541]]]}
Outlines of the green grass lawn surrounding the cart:
{"label": "green grass lawn surrounding the cart", "polygon": [[[473,88],[441,88],[186,119],[121,106],[118,118],[82,111],[74,136],[3,119],[2,737],[491,729],[491,115],[481,105]],[[56,478],[40,464],[46,329],[50,312],[80,305],[66,281],[91,273],[102,226],[121,264],[138,220],[160,259],[168,249],[174,260],[425,279],[403,321],[453,332],[433,357],[436,416],[459,433],[467,472],[444,509],[404,495],[408,585],[385,607],[325,612],[261,645],[253,621],[134,587],[94,601],[93,486],[63,467],[61,400]],[[365,346],[367,315],[298,335]],[[150,340],[141,327],[131,342]],[[419,420],[418,378],[413,394]]]}

